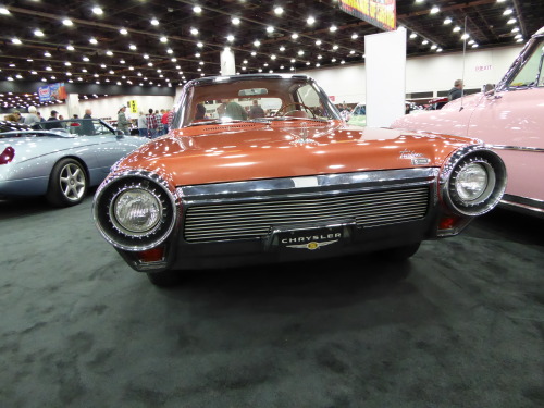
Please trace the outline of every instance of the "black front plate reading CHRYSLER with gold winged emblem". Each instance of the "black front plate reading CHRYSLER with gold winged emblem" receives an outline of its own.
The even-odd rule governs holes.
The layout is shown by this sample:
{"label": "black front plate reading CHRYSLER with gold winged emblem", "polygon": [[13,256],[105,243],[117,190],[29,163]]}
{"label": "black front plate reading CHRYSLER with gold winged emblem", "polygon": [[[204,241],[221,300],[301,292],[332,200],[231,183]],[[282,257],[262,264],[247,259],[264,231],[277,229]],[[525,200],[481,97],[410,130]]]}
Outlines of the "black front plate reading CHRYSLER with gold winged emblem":
{"label": "black front plate reading CHRYSLER with gold winged emblem", "polygon": [[267,243],[269,250],[314,251],[343,246],[351,238],[355,222],[274,227]]}

